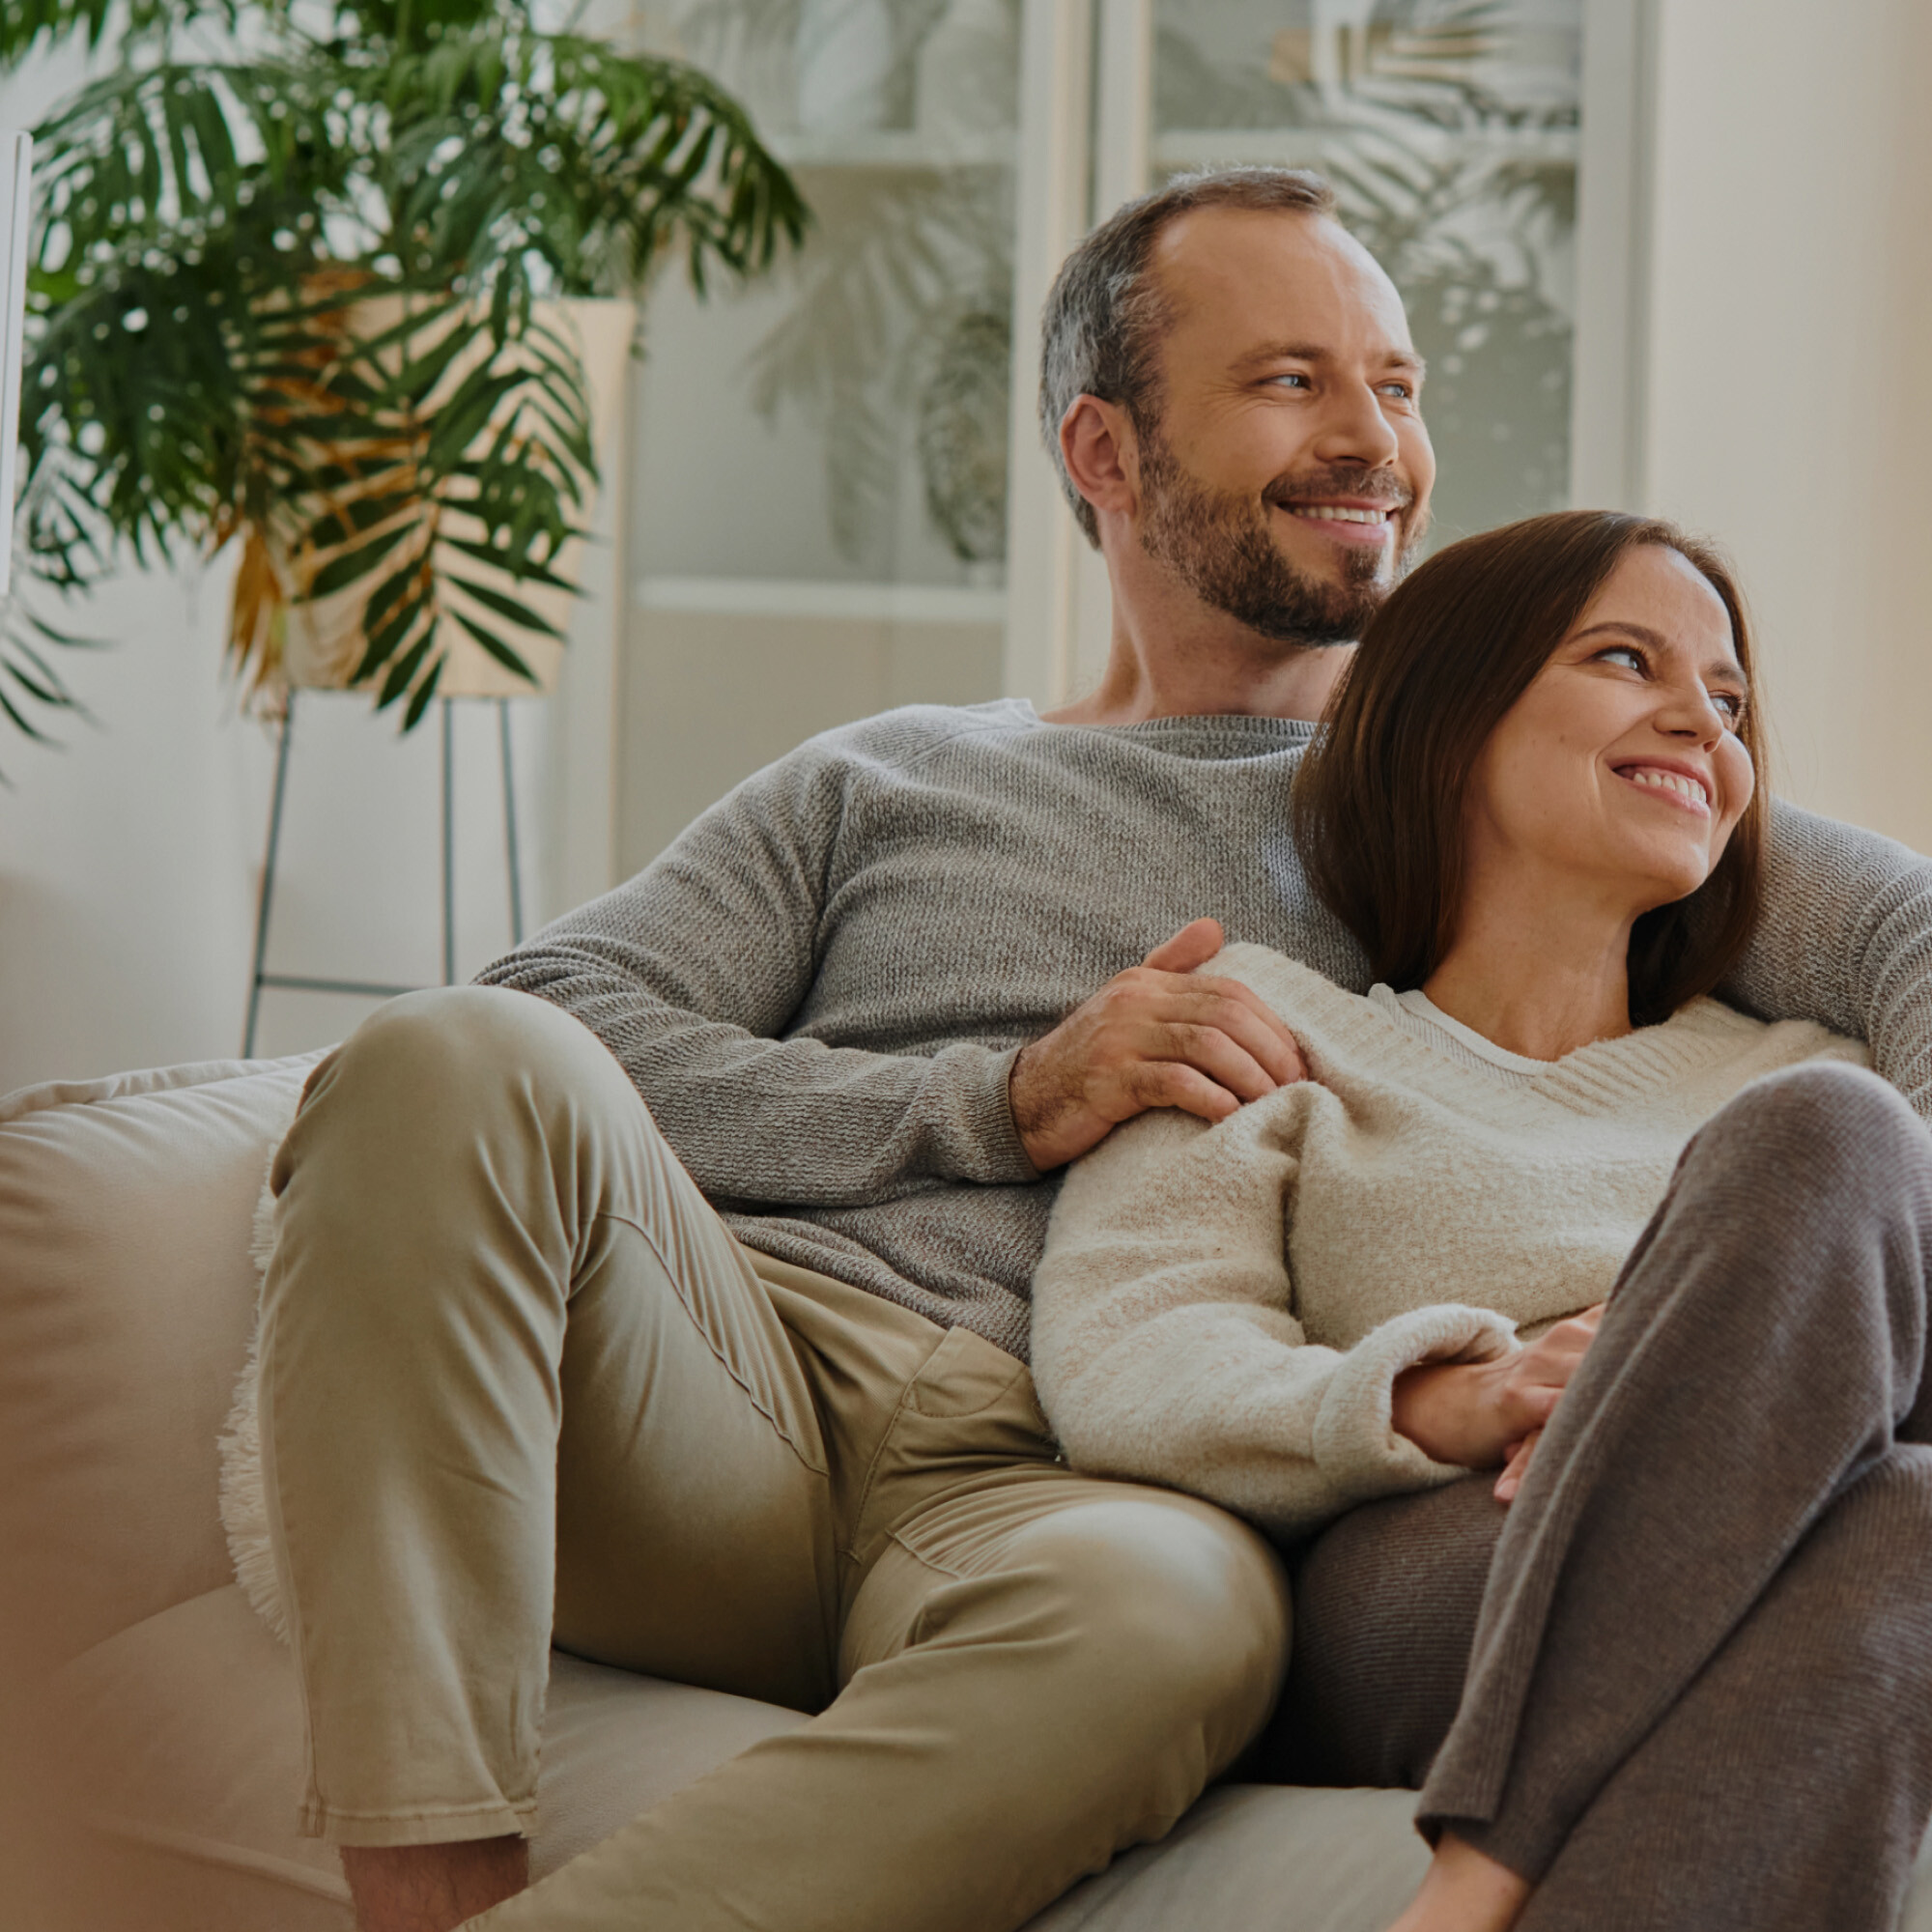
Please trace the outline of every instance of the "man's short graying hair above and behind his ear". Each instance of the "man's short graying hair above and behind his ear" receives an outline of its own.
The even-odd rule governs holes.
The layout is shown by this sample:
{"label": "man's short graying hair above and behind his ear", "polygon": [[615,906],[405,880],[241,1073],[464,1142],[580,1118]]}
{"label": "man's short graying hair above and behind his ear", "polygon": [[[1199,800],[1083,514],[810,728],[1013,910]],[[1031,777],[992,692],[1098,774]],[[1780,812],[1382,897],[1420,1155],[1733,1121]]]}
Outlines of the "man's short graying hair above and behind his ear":
{"label": "man's short graying hair above and behind his ear", "polygon": [[1148,263],[1161,230],[1194,209],[1335,213],[1335,189],[1306,168],[1211,168],[1177,174],[1151,195],[1115,209],[1061,263],[1039,321],[1039,435],[1088,543],[1099,547],[1094,504],[1061,456],[1061,417],[1074,396],[1126,410],[1138,431],[1159,415],[1161,334],[1171,317]]}

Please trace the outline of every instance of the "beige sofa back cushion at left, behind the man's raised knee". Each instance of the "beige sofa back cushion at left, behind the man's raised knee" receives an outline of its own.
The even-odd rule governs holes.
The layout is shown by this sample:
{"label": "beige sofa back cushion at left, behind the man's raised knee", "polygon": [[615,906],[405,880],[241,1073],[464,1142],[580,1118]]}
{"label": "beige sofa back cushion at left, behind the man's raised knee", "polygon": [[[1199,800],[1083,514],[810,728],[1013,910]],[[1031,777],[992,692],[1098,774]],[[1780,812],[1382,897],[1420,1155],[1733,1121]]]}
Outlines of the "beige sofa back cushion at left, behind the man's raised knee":
{"label": "beige sofa back cushion at left, behind the man's raised knee", "polygon": [[214,1439],[255,1312],[249,1221],[313,1061],[0,1101],[12,1642],[73,1656],[228,1582]]}

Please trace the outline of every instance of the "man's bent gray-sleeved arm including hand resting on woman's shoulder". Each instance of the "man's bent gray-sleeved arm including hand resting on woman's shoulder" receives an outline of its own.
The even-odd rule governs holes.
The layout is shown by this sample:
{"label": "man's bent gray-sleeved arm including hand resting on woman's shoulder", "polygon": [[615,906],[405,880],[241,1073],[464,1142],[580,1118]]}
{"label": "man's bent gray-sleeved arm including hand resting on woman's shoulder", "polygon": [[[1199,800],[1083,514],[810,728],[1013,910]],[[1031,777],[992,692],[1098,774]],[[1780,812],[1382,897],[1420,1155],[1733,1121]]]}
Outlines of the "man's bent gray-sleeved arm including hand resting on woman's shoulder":
{"label": "man's bent gray-sleeved arm including hand resting on woman's shoulder", "polygon": [[[576,1014],[711,1196],[864,1206],[933,1180],[1030,1182],[1117,1119],[1208,1119],[1296,1078],[1287,1028],[1186,966],[1130,968],[1018,1049],[867,1053],[782,1039],[819,970],[850,765],[813,742],[748,779],[628,885],[547,925],[479,983]],[[1155,949],[1150,960],[1171,949]],[[1024,1113],[1024,1126],[1014,1115]]]}

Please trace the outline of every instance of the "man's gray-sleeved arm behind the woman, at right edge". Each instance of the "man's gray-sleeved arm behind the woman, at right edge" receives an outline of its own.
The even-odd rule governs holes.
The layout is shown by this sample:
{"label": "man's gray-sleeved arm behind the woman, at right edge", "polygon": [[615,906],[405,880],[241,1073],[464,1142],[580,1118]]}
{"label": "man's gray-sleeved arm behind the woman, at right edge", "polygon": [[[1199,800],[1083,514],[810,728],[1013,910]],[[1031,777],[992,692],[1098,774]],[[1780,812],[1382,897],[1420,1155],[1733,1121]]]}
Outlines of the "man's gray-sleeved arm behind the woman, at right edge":
{"label": "man's gray-sleeved arm behind the woman, at right edge", "polygon": [[1764,916],[1719,993],[1768,1020],[1855,1034],[1932,1121],[1932,862],[1774,802]]}

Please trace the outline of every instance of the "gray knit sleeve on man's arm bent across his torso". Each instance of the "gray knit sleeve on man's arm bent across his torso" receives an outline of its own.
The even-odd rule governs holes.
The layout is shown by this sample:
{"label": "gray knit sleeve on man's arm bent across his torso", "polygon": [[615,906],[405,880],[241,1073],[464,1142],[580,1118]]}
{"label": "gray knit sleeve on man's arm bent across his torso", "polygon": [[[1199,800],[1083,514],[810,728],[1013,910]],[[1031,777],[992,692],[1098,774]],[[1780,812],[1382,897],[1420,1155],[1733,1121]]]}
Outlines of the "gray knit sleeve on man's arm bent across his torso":
{"label": "gray knit sleeve on man's arm bent across his torso", "polygon": [[817,972],[846,779],[837,752],[804,746],[479,983],[582,1020],[707,1194],[858,1206],[935,1179],[1034,1180],[1007,1105],[1012,1051],[775,1037]]}

